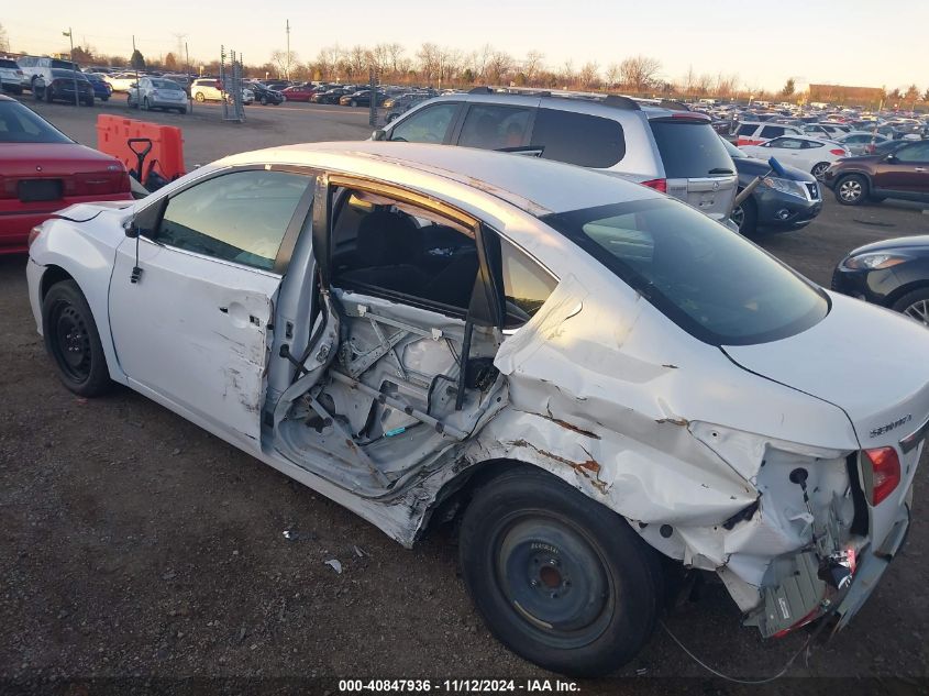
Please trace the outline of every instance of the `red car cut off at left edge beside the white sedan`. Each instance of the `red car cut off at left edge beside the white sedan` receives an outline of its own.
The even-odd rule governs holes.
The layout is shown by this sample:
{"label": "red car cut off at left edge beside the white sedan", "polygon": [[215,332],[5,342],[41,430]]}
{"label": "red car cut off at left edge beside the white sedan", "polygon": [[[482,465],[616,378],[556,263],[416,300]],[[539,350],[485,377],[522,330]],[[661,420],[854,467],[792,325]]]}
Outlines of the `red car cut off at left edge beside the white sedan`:
{"label": "red car cut off at left edge beside the white sedan", "polygon": [[132,200],[123,164],[0,95],[0,254],[25,252],[30,230],[55,211],[100,200]]}

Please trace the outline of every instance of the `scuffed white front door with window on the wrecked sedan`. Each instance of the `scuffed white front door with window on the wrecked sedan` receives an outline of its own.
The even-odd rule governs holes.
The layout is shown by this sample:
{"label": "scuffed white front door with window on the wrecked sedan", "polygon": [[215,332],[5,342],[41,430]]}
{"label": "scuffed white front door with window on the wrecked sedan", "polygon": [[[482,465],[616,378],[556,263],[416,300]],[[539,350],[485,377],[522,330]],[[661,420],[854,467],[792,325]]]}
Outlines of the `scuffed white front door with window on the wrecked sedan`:
{"label": "scuffed white front door with window on the wrecked sedan", "polygon": [[130,385],[246,448],[259,445],[268,324],[312,181],[209,176],[141,210],[140,236],[117,252],[110,325]]}

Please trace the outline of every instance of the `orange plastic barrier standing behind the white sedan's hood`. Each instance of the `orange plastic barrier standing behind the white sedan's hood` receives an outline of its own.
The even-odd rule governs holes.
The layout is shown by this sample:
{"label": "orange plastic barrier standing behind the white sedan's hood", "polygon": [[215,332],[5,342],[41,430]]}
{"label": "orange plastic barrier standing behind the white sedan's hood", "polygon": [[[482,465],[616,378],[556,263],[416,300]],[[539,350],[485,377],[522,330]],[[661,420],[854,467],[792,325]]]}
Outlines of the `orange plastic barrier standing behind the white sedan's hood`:
{"label": "orange plastic barrier standing behind the white sedan's hood", "polygon": [[187,174],[184,166],[184,136],[176,125],[102,113],[97,117],[97,150],[122,161],[126,169],[135,169],[139,158],[126,142],[130,137],[147,137],[152,141],[152,151],[142,165],[143,184],[153,170],[168,181]]}

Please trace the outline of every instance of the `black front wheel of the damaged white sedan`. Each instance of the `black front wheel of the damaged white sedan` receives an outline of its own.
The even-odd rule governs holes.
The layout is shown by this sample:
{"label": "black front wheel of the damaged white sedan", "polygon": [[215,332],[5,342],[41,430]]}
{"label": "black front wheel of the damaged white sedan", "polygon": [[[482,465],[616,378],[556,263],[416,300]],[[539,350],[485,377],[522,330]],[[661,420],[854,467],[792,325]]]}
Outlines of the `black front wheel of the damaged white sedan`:
{"label": "black front wheel of the damaged white sedan", "polygon": [[58,377],[79,396],[107,391],[112,383],[90,306],[74,280],[53,285],[42,300],[42,332]]}

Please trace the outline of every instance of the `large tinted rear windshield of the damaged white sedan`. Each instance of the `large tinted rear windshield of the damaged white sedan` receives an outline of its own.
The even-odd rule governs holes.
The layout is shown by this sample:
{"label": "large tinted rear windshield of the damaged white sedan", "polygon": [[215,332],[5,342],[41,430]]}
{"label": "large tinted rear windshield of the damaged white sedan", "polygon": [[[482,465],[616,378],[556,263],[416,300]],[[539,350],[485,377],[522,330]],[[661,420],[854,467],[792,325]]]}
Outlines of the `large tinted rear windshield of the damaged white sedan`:
{"label": "large tinted rear windshield of the damaged white sedan", "polygon": [[821,290],[676,200],[600,206],[541,220],[706,343],[776,341],[808,329],[829,311]]}

